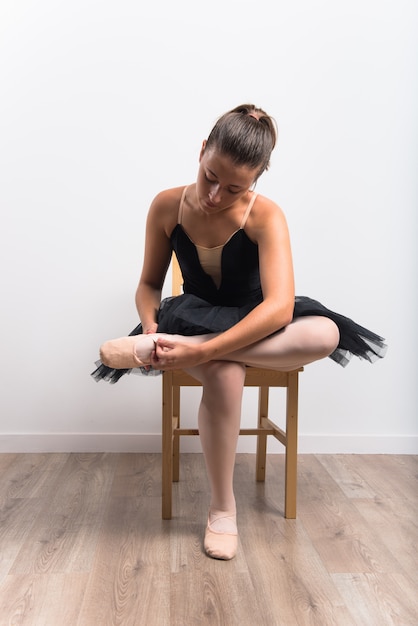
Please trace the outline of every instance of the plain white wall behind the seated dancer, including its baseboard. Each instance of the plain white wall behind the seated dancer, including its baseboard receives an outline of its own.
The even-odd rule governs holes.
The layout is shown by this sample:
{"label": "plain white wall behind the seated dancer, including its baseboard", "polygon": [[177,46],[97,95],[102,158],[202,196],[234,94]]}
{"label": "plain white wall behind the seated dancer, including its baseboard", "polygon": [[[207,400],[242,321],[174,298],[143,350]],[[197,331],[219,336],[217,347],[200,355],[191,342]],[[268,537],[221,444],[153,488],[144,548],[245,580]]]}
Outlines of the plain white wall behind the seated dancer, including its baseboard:
{"label": "plain white wall behind the seated dancer, including its baseboard", "polygon": [[279,124],[258,190],[298,293],[390,344],[306,368],[300,449],[418,451],[417,26],[414,0],[3,0],[0,451],[159,449],[160,378],[89,374],[137,323],[150,200],[244,101]]}

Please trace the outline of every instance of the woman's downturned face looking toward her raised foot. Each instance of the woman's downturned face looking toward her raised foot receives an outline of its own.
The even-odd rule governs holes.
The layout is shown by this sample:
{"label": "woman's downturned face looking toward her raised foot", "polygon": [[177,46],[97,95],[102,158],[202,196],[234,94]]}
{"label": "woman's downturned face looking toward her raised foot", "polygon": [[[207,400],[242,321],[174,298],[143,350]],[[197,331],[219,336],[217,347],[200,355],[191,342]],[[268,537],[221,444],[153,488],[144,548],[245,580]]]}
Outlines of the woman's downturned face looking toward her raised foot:
{"label": "woman's downturned face looking toward her raised foot", "polygon": [[203,142],[199,159],[196,192],[199,206],[207,214],[231,207],[255,183],[258,170],[233,163],[229,156],[215,148],[205,150]]}

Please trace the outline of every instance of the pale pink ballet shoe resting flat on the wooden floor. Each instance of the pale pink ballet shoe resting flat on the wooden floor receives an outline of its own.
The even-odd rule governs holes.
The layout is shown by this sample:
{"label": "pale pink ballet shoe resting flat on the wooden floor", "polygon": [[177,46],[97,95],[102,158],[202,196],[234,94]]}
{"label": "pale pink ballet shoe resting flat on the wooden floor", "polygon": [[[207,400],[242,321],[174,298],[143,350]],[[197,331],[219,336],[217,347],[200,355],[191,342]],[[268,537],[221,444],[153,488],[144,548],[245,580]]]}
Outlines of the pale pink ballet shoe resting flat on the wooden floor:
{"label": "pale pink ballet shoe resting flat on the wooden floor", "polygon": [[204,548],[213,559],[229,561],[238,549],[238,532],[235,515],[219,515],[208,519],[205,532]]}

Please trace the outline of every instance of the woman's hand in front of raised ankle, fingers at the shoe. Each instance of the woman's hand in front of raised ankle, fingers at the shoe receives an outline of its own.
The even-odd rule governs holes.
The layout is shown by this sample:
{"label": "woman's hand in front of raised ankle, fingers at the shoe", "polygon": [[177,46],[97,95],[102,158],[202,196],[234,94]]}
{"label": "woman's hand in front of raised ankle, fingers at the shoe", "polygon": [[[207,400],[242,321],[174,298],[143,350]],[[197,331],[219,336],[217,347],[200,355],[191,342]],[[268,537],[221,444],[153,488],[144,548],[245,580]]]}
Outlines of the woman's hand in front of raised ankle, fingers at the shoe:
{"label": "woman's hand in front of raised ankle, fingers at the shoe", "polygon": [[159,337],[151,353],[151,365],[157,370],[176,370],[204,363],[202,344],[181,343]]}

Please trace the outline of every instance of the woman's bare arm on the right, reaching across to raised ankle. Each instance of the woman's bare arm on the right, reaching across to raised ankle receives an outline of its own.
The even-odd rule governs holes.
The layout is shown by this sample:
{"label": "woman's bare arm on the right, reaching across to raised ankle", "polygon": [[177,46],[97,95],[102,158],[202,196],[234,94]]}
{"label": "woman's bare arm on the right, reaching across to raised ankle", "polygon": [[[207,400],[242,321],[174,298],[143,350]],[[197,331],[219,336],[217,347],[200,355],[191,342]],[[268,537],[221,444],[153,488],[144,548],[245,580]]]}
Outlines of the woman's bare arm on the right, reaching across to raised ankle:
{"label": "woman's bare arm on the right, reaching across to raised ankle", "polygon": [[[199,345],[159,339],[152,365],[160,369],[192,367],[267,337],[289,324],[294,308],[294,276],[289,231],[281,209],[259,196],[246,232],[258,244],[263,302],[229,330]],[[169,348],[167,351],[166,349]]]}

